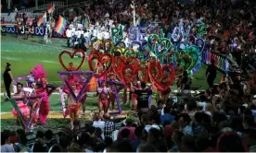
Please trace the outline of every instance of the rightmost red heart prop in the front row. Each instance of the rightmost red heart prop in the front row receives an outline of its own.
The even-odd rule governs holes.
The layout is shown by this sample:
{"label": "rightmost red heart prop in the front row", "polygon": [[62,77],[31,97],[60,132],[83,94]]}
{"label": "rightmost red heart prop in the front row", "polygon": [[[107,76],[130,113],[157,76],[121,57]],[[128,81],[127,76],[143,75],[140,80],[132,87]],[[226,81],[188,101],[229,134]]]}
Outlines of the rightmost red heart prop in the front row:
{"label": "rightmost red heart prop in the front row", "polygon": [[[151,82],[153,82],[154,86],[158,89],[160,89],[161,91],[166,90],[167,88],[170,88],[173,85],[173,81],[174,81],[174,76],[175,76],[175,71],[173,69],[172,65],[160,65],[160,68],[158,68],[157,75],[153,76],[153,68],[154,67],[159,67],[160,63],[149,63],[148,65],[148,74],[149,74],[149,78],[151,80]],[[165,69],[169,69],[169,81],[168,83],[164,83],[164,85],[162,83],[160,83],[159,78],[161,78],[164,73],[163,70]]]}

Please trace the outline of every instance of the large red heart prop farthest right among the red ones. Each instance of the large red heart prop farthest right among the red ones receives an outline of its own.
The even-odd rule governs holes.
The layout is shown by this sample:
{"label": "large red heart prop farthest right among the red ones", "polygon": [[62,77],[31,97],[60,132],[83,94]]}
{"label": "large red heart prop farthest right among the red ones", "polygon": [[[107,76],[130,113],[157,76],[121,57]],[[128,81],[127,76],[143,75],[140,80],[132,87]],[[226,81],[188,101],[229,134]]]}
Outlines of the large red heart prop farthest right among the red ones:
{"label": "large red heart prop farthest right among the red ones", "polygon": [[158,68],[157,75],[153,76],[153,68],[159,67],[160,63],[149,63],[148,65],[148,74],[151,82],[154,84],[154,86],[161,91],[164,91],[168,88],[170,88],[173,85],[175,71],[173,69],[172,65],[161,65],[160,69]]}

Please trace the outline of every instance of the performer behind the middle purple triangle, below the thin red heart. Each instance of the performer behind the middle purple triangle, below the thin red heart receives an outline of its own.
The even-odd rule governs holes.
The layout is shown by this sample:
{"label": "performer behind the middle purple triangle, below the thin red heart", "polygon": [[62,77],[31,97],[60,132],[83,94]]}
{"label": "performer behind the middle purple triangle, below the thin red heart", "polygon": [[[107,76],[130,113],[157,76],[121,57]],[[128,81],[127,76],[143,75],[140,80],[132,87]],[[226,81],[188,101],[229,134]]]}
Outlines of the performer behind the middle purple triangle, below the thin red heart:
{"label": "performer behind the middle purple triangle, below the thin red heart", "polygon": [[[77,96],[79,94],[79,90],[77,89],[77,86],[75,84],[75,81],[73,79],[69,79],[69,84],[72,86],[73,93]],[[79,118],[79,108],[80,108],[80,102],[76,103],[71,95],[70,91],[67,88],[63,88],[63,91],[69,95],[68,103],[69,103],[69,113],[70,113],[70,126],[71,130],[74,128],[73,122]]]}

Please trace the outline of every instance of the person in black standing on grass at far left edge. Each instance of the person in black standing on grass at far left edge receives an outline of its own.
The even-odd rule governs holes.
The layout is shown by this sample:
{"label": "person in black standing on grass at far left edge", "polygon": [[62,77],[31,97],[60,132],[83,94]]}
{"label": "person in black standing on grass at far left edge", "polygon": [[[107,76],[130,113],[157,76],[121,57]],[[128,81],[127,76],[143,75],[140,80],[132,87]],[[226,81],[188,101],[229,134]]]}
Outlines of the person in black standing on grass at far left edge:
{"label": "person in black standing on grass at far left edge", "polygon": [[7,99],[10,99],[11,98],[11,95],[10,95],[10,85],[11,85],[11,82],[13,80],[13,76],[11,74],[11,69],[10,69],[10,64],[9,63],[6,63],[6,70],[3,74],[3,77],[4,77],[4,83],[5,83],[5,87],[6,87],[6,94],[7,94]]}

